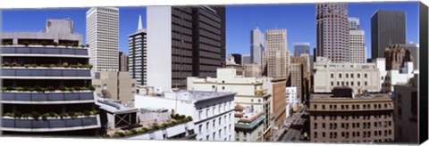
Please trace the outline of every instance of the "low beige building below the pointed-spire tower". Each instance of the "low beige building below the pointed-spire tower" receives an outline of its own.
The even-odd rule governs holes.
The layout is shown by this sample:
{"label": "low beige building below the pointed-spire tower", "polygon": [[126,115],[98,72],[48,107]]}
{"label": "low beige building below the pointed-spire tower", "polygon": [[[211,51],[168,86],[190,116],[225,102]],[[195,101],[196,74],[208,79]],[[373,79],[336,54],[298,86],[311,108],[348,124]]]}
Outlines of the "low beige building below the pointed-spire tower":
{"label": "low beige building below the pointed-spire tower", "polygon": [[106,88],[110,99],[122,101],[122,104],[133,100],[136,91],[136,81],[130,78],[129,72],[101,71],[99,78],[92,79],[92,85],[99,95],[103,95],[101,91]]}

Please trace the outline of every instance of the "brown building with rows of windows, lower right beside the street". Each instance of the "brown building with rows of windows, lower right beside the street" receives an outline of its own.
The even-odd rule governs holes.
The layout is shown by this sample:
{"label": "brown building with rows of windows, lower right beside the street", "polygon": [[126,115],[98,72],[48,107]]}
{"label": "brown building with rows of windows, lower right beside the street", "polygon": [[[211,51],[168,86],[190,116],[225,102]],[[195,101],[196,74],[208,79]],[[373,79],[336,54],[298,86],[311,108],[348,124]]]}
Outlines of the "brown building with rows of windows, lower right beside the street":
{"label": "brown building with rows of windows, lower right beside the street", "polygon": [[388,94],[371,98],[317,96],[308,106],[311,142],[395,141],[393,101]]}

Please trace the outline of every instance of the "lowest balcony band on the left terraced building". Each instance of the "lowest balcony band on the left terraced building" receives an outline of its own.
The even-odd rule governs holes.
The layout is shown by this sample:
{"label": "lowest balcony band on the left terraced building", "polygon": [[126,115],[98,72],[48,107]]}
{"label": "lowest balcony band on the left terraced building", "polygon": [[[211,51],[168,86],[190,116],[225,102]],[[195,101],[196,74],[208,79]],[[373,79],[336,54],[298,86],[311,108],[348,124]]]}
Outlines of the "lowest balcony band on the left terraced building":
{"label": "lowest balcony band on the left terraced building", "polygon": [[2,118],[2,130],[13,132],[55,132],[100,127],[100,117],[24,119]]}

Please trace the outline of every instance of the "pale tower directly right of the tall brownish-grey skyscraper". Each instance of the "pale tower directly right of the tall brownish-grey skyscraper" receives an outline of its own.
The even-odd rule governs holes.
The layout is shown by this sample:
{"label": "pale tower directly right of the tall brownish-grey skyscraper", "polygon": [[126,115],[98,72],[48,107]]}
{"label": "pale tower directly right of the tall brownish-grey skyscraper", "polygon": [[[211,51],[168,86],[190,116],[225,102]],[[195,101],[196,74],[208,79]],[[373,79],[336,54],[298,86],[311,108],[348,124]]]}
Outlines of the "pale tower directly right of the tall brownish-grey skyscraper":
{"label": "pale tower directly right of the tall brownish-grey skyscraper", "polygon": [[349,61],[366,62],[365,31],[359,29],[359,19],[349,18]]}

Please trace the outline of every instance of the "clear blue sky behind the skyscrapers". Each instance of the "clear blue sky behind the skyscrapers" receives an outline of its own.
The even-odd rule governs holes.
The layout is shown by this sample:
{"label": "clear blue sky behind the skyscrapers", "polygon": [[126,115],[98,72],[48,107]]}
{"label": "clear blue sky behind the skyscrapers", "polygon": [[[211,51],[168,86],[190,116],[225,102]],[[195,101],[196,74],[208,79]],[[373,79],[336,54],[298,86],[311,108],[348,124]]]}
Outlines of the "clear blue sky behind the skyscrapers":
{"label": "clear blue sky behind the skyscrapers", "polygon": [[[407,14],[407,41],[418,43],[418,5],[402,3],[349,3],[349,17],[360,19],[366,33],[366,52],[371,49],[371,15],[378,9],[404,11]],[[74,31],[85,41],[85,13],[88,8],[3,10],[2,31],[40,31],[46,19],[70,18]],[[128,35],[137,29],[139,14],[146,28],[145,7],[120,8],[119,50],[128,53]],[[226,8],[226,53],[249,53],[250,30],[258,24],[265,32],[270,28],[286,28],[290,53],[293,43],[307,42],[315,47],[315,4],[229,5]],[[313,50],[310,51],[311,53]]]}

